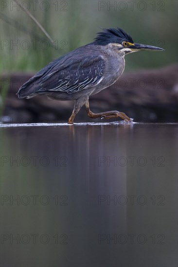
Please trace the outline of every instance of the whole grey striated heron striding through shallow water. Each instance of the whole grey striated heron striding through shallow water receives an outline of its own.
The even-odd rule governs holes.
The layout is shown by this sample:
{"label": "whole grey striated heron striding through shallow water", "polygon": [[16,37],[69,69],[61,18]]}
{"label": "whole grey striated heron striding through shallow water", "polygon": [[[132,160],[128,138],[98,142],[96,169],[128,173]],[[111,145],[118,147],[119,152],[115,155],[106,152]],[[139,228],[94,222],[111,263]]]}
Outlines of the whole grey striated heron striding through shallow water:
{"label": "whole grey striated heron striding through shallow water", "polygon": [[92,43],[61,56],[36,73],[18,90],[18,98],[47,95],[55,100],[75,100],[68,119],[72,124],[80,108],[85,105],[91,118],[121,117],[130,121],[125,113],[108,111],[94,114],[89,109],[89,96],[97,94],[115,83],[125,68],[125,55],[142,50],[163,50],[136,44],[121,28],[103,29]]}

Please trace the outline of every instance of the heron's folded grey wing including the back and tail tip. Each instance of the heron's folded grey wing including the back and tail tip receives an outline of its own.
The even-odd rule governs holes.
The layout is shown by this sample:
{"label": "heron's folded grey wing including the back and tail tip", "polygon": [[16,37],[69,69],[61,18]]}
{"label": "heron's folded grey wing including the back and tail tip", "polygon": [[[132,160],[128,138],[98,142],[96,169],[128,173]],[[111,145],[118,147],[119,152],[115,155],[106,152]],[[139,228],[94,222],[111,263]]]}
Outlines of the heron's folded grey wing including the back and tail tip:
{"label": "heron's folded grey wing including the back and tail tip", "polygon": [[24,98],[36,93],[61,91],[69,94],[93,87],[103,79],[105,68],[101,55],[67,54],[49,63],[18,90]]}

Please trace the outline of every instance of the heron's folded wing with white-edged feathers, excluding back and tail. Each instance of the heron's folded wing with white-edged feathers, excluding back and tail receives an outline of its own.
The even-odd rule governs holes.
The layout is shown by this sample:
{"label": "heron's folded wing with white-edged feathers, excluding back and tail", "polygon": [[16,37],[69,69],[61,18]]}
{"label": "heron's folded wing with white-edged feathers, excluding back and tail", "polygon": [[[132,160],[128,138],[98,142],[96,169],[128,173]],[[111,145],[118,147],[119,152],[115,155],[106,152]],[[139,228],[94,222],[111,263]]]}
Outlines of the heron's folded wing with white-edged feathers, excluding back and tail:
{"label": "heron's folded wing with white-edged feathers, excluding back and tail", "polygon": [[38,80],[38,92],[60,91],[69,94],[99,84],[103,79],[104,59],[102,56],[87,56],[67,66],[55,66]]}

